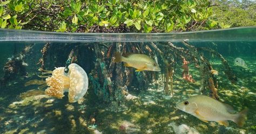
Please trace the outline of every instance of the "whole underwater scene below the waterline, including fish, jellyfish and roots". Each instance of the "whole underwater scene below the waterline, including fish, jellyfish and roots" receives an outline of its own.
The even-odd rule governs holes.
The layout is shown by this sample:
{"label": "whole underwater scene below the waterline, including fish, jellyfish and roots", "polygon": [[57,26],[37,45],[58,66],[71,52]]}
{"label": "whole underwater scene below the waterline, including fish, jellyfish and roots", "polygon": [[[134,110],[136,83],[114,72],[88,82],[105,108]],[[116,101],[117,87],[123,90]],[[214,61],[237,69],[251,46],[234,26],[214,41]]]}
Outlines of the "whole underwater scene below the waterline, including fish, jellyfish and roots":
{"label": "whole underwater scene below the waterline, including fish, jellyfish and roots", "polygon": [[256,133],[256,27],[0,30],[0,133]]}

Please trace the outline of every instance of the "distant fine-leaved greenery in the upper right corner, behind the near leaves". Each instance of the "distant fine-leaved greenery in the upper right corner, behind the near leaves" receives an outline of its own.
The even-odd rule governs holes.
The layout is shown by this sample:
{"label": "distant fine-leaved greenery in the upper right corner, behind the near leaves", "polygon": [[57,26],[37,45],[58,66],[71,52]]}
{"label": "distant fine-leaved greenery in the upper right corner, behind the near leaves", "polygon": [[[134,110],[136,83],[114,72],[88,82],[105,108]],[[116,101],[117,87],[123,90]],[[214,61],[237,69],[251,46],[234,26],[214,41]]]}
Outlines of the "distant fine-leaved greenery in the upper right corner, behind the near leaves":
{"label": "distant fine-leaved greenery in the upper right corner, behind the near leaves", "polygon": [[[243,0],[216,0],[214,6],[216,16],[221,28],[256,26],[256,4],[253,1]],[[227,25],[228,24],[228,25]]]}

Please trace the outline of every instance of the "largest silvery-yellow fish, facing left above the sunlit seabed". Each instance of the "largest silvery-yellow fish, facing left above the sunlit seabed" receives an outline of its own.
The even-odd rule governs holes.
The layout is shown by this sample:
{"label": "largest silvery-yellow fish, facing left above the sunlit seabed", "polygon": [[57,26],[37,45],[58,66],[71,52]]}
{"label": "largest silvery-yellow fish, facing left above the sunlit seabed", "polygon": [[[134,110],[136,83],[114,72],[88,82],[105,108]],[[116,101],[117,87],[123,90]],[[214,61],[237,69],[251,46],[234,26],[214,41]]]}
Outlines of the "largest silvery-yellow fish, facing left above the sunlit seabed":
{"label": "largest silvery-yellow fish, facing left above the sunlit seabed", "polygon": [[228,121],[233,121],[239,127],[244,125],[248,111],[248,109],[245,109],[234,114],[234,110],[230,105],[204,95],[187,98],[179,102],[176,107],[188,114],[196,116],[204,122],[215,121],[221,125],[228,126]]}

